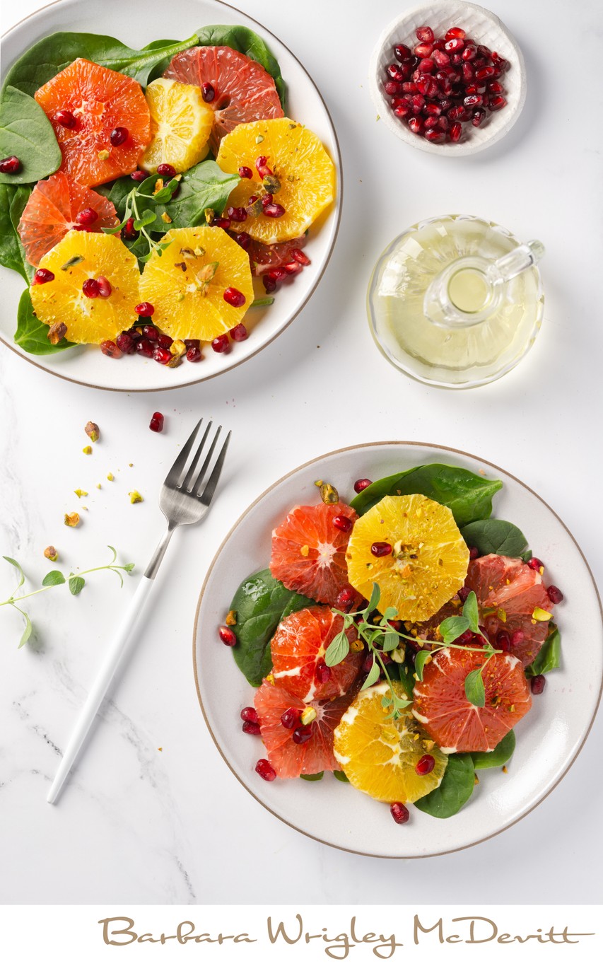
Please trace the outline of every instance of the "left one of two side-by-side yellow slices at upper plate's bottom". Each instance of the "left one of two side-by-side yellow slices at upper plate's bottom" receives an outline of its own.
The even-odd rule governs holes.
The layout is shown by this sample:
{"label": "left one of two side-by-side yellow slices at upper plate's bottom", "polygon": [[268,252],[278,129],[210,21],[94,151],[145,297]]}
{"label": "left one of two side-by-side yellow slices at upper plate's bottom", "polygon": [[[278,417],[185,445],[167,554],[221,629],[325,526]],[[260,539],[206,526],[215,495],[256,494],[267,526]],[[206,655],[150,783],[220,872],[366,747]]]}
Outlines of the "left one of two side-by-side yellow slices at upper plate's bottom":
{"label": "left one of two side-by-side yellow slices at upper plate's bottom", "polygon": [[[31,286],[34,311],[46,326],[64,323],[70,342],[100,343],[136,325],[140,272],[134,255],[116,235],[68,232],[43,256],[40,268],[54,277]],[[108,281],[110,295],[88,298],[82,286],[99,276]]]}

